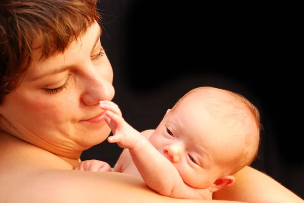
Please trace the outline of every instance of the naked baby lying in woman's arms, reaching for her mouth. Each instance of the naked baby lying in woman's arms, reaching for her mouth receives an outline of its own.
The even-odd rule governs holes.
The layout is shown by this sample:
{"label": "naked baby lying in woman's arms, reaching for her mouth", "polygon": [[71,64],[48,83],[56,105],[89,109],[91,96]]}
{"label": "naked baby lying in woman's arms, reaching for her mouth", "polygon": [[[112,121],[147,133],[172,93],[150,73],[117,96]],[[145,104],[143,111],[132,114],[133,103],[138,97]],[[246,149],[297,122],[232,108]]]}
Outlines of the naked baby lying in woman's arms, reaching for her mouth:
{"label": "naked baby lying in woman's arms, reaching for her mouth", "polygon": [[167,110],[156,130],[142,133],[126,123],[115,103],[101,101],[100,107],[113,133],[108,141],[125,149],[113,170],[97,160],[82,161],[75,170],[127,173],[141,176],[162,195],[212,199],[257,155],[258,110],[227,90],[189,91]]}

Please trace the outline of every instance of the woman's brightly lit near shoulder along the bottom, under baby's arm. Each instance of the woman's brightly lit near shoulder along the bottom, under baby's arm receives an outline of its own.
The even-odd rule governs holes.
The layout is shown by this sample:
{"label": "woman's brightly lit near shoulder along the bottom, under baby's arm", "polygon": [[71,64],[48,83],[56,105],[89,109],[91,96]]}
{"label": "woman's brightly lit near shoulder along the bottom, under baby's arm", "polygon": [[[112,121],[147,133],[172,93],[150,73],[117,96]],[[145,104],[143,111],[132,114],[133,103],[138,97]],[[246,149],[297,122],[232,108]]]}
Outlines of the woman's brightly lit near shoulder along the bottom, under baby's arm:
{"label": "woman's brightly lit near shoulder along the bottom, under baby's arm", "polygon": [[0,202],[202,202],[159,195],[146,187],[140,178],[116,172],[50,170],[13,180],[9,187],[10,189],[6,190],[8,194],[0,195]]}

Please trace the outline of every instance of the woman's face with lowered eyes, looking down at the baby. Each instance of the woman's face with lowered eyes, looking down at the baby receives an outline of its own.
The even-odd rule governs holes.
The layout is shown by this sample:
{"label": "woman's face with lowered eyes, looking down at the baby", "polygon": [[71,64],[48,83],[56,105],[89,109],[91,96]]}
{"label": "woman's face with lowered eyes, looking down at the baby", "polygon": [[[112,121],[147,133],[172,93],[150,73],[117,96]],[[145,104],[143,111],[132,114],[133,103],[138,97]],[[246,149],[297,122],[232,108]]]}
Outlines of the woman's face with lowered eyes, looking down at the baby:
{"label": "woman's face with lowered eyes, looking down at the baby", "polygon": [[55,154],[78,158],[104,141],[110,129],[99,108],[114,96],[111,65],[93,24],[63,54],[40,59],[39,50],[20,86],[0,106],[0,128]]}

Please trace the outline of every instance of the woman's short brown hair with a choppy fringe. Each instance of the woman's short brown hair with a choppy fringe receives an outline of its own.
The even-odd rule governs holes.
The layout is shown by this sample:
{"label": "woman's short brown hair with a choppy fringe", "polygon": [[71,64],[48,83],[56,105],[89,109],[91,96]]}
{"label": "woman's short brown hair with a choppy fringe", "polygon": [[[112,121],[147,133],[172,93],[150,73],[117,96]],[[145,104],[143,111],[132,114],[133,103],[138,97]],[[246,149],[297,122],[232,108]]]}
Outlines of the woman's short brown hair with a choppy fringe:
{"label": "woman's short brown hair with a choppy fringe", "polygon": [[100,23],[95,0],[1,0],[0,105],[18,86],[34,49],[42,59],[62,53],[94,22]]}

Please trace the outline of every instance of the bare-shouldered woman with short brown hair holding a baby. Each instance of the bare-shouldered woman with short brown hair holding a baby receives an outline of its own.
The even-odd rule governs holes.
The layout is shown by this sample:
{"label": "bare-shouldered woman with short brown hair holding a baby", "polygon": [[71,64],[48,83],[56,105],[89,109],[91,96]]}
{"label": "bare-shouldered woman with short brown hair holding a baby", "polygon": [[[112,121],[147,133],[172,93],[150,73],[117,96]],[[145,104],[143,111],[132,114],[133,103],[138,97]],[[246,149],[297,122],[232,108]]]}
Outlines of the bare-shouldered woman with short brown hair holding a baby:
{"label": "bare-shouldered woman with short brown hair holding a baby", "polygon": [[[199,202],[72,170],[109,135],[99,101],[115,94],[93,0],[1,1],[0,26],[0,202]],[[235,176],[218,202],[302,202],[249,167]]]}

